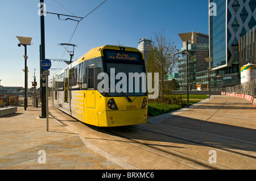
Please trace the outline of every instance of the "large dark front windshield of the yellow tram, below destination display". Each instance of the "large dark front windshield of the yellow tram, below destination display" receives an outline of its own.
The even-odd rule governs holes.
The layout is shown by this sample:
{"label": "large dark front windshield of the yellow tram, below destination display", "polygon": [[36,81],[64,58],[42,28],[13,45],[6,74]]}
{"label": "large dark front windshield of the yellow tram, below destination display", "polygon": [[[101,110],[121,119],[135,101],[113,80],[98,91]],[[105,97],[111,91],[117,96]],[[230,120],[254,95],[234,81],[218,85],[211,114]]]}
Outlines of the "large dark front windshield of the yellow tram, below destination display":
{"label": "large dark front windshield of the yellow tram, below destination display", "polygon": [[106,71],[109,75],[109,96],[147,95],[144,65],[108,62]]}

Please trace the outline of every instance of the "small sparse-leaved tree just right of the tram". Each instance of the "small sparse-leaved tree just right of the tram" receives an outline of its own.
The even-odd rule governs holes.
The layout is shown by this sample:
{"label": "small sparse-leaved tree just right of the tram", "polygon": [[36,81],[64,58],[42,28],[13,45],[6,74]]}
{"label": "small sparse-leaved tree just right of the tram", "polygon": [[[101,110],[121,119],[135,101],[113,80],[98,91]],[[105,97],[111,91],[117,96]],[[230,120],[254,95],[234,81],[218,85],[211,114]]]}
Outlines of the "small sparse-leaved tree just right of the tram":
{"label": "small sparse-leaved tree just right of the tram", "polygon": [[154,44],[148,52],[148,60],[146,62],[147,72],[159,73],[159,95],[165,94],[168,74],[171,74],[179,62],[179,49],[176,48],[174,42],[164,37],[163,30],[155,33]]}

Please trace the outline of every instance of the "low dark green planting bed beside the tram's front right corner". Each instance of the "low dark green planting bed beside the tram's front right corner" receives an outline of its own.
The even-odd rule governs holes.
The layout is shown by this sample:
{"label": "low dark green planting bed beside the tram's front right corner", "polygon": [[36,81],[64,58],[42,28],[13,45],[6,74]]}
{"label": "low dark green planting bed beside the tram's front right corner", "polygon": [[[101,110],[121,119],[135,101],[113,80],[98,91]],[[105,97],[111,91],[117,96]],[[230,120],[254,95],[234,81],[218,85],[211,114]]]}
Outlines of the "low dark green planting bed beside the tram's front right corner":
{"label": "low dark green planting bed beside the tram's front right corner", "polygon": [[158,116],[174,110],[179,110],[181,106],[163,103],[148,103],[148,116]]}

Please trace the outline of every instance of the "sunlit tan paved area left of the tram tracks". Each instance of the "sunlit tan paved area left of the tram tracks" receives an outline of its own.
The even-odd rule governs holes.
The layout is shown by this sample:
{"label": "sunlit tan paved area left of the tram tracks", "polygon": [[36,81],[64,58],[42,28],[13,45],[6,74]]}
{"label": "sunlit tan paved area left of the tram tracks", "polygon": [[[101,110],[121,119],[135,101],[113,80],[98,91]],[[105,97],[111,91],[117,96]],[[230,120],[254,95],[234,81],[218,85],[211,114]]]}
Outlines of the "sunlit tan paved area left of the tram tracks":
{"label": "sunlit tan paved area left of the tram tracks", "polygon": [[1,170],[123,169],[51,116],[47,132],[40,113],[40,107],[18,107],[13,115],[0,117]]}

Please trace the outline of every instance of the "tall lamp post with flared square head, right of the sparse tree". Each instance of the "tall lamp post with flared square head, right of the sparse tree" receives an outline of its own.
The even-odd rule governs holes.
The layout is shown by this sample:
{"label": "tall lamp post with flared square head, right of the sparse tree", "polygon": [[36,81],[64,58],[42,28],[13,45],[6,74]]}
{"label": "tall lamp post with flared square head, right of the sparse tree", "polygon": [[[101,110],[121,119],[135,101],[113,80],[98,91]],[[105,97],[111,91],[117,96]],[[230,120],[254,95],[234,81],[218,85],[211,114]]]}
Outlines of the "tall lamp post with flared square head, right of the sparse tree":
{"label": "tall lamp post with flared square head, right of the sparse tree", "polygon": [[186,60],[187,60],[187,106],[189,107],[189,87],[188,87],[188,41],[192,40],[192,32],[179,33],[180,39],[186,42]]}

